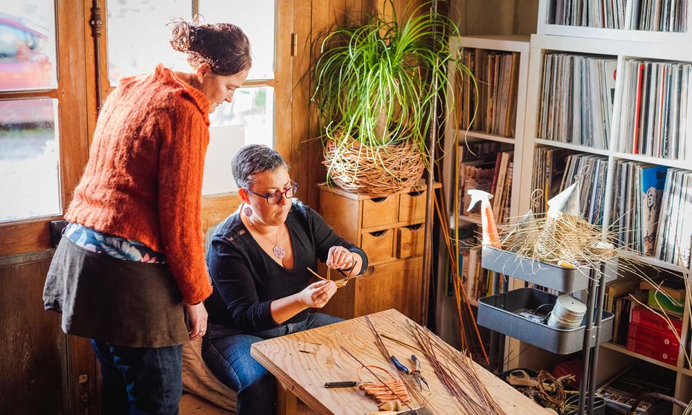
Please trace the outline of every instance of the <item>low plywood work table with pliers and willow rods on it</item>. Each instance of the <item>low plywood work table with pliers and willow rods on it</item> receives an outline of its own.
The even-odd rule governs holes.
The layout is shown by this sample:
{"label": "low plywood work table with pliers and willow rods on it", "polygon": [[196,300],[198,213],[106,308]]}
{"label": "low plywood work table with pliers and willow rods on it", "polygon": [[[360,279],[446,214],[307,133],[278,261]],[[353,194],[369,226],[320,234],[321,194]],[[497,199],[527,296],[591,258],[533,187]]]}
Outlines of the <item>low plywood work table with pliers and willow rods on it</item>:
{"label": "low plywood work table with pliers and willow rods on it", "polygon": [[[408,319],[399,311],[391,309],[371,314],[369,317],[380,335],[388,335],[417,347],[417,342],[406,324]],[[423,375],[430,383],[432,391],[432,397],[426,404],[432,414],[464,414],[461,405],[437,378],[423,353],[385,338],[383,342],[390,354],[397,356],[399,360],[406,362],[405,364],[410,365],[409,358],[412,353],[421,360]],[[279,380],[277,414],[295,414],[296,397],[318,414],[360,415],[377,410],[374,398],[365,396],[357,387],[324,387],[325,382],[356,380],[356,371],[361,365],[340,346],[348,349],[365,365],[386,368],[397,376],[390,362],[385,360],[377,349],[374,333],[365,317],[253,344],[252,356]],[[486,389],[507,415],[549,413],[500,378],[479,365],[474,365]],[[365,369],[361,372],[364,371]],[[370,380],[372,376],[365,373],[363,378]],[[416,402],[411,404],[411,407],[417,406],[419,405]]]}

